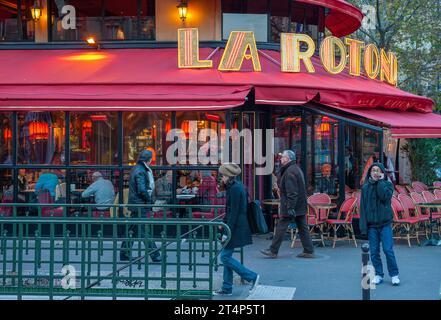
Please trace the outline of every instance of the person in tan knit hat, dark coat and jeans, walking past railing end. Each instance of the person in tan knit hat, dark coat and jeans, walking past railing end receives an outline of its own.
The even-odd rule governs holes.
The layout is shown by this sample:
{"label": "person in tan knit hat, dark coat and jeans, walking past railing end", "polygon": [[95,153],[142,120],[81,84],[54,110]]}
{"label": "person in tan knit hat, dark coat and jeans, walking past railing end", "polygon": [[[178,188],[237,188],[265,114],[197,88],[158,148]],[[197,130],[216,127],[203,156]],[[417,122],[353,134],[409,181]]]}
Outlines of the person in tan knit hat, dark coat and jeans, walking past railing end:
{"label": "person in tan knit hat, dark coat and jeans, walking past railing end", "polygon": [[236,177],[241,173],[241,169],[235,163],[224,163],[220,166],[219,173],[226,189],[227,201],[224,222],[231,230],[231,239],[220,252],[220,259],[224,267],[223,284],[221,289],[213,292],[213,295],[231,296],[233,271],[252,284],[251,290],[257,286],[259,275],[233,258],[235,248],[241,248],[252,243],[247,218],[247,193],[243,184],[236,180]]}

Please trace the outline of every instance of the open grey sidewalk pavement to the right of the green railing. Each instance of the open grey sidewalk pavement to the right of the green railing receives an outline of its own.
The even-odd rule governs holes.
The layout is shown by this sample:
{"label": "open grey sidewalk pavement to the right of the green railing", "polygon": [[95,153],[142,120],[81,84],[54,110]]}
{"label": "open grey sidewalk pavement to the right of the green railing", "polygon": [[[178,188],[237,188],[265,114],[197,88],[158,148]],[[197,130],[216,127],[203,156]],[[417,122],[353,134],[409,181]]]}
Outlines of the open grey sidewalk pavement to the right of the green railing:
{"label": "open grey sidewalk pavement to the right of the green railing", "polygon": [[[361,300],[361,245],[366,241],[337,242],[336,247],[316,247],[315,259],[300,259],[299,241],[290,248],[287,236],[277,259],[263,256],[259,251],[267,248],[268,235],[253,237],[253,244],[244,248],[245,266],[260,274],[260,284],[278,287],[295,287],[294,300]],[[371,290],[371,300],[437,300],[440,299],[441,247],[411,248],[407,242],[395,241],[395,255],[400,270],[401,285],[393,287],[387,274],[386,258],[382,253],[384,282]],[[216,273],[221,278],[222,267]],[[235,281],[232,300],[249,296],[249,285]],[[217,288],[216,288],[217,289]],[[225,299],[214,297],[215,299]]]}

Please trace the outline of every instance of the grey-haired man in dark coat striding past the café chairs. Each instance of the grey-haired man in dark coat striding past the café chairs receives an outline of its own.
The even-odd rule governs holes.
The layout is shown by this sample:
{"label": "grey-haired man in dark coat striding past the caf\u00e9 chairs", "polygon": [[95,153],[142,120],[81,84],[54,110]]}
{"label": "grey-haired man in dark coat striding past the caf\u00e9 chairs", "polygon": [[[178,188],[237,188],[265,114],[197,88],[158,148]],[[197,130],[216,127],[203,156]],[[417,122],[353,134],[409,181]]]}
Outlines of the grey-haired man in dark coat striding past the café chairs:
{"label": "grey-haired man in dark coat striding past the caf\u00e9 chairs", "polygon": [[306,187],[303,172],[296,164],[296,154],[292,150],[285,150],[282,153],[277,183],[280,190],[279,221],[273,237],[271,246],[260,252],[270,258],[277,258],[277,254],[285,238],[288,225],[294,219],[299,230],[303,252],[298,254],[299,258],[315,258],[314,246],[309,235],[306,221]]}

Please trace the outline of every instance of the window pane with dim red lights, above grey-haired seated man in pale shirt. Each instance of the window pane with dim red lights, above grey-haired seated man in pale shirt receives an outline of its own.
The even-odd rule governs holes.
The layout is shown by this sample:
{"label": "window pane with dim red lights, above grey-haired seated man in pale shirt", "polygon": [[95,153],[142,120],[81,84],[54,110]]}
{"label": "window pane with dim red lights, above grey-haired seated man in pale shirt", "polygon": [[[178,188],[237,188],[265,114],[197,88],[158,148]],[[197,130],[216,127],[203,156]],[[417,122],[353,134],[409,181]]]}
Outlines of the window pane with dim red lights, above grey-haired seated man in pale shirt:
{"label": "window pane with dim red lights, above grey-haired seated man in pale shirt", "polygon": [[72,113],[70,116],[71,164],[118,163],[116,112]]}

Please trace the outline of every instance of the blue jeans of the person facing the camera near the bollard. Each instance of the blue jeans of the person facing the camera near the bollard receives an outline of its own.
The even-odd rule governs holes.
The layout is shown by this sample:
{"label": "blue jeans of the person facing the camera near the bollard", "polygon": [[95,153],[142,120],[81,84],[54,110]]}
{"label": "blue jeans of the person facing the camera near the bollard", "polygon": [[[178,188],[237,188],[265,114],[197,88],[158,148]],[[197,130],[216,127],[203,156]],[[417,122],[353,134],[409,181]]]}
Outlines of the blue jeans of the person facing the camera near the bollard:
{"label": "blue jeans of the person facing the camera near the bollard", "polygon": [[380,243],[383,246],[383,252],[386,256],[387,270],[391,277],[398,275],[398,266],[395,259],[392,237],[392,227],[390,224],[380,228],[369,227],[368,229],[369,247],[371,252],[372,265],[375,268],[375,274],[383,277],[383,263],[380,257]]}

